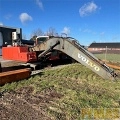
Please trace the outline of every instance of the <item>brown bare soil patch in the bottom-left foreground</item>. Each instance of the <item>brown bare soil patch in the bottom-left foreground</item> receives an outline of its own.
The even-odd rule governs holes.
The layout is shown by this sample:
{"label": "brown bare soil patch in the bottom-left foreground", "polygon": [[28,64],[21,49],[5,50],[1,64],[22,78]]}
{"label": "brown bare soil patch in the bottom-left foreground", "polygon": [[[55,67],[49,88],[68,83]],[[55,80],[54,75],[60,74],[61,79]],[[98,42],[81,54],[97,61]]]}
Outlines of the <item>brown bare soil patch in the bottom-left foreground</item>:
{"label": "brown bare soil patch in the bottom-left foreground", "polygon": [[1,120],[51,120],[47,106],[60,95],[54,90],[33,94],[33,87],[23,87],[5,93],[0,98]]}

